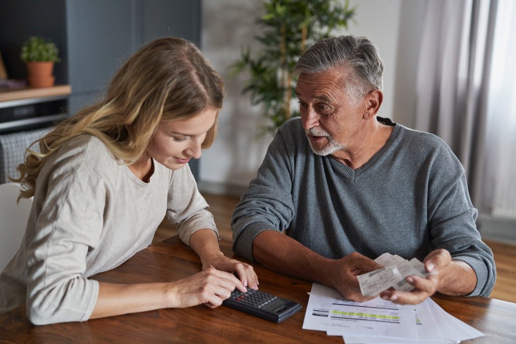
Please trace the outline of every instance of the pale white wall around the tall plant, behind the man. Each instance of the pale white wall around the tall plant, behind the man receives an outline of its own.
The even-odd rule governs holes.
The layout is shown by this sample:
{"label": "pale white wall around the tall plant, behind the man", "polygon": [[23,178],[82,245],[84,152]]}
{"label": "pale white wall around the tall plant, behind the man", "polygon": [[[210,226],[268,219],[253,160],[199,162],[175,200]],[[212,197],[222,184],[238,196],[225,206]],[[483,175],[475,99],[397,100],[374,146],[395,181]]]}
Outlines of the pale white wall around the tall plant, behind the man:
{"label": "pale white wall around the tall plant, behind the man", "polygon": [[[411,125],[410,99],[408,105],[406,102],[411,95],[397,96],[395,90],[398,84],[407,86],[412,77],[415,80],[417,54],[410,50],[411,45],[400,44],[399,39],[402,43],[417,41],[419,14],[412,17],[410,12],[421,11],[424,2],[351,0],[350,5],[357,7],[355,23],[350,23],[348,30],[335,34],[368,36],[378,46],[385,63],[384,102],[379,116]],[[241,48],[246,45],[257,47],[253,37],[260,27],[255,24],[255,19],[261,13],[261,1],[203,1],[202,49],[225,78],[228,90],[219,120],[219,137],[211,149],[203,152],[200,163],[199,187],[204,191],[238,193],[244,189],[256,175],[271,140],[270,136],[256,139],[258,128],[265,120],[260,109],[250,105],[249,97],[241,94],[245,75],[228,80],[228,65],[239,58]],[[407,21],[410,30],[414,26],[416,29],[404,31]],[[405,54],[401,59],[400,52]],[[414,72],[407,73],[406,68],[411,66]],[[414,87],[411,90],[415,92]]]}

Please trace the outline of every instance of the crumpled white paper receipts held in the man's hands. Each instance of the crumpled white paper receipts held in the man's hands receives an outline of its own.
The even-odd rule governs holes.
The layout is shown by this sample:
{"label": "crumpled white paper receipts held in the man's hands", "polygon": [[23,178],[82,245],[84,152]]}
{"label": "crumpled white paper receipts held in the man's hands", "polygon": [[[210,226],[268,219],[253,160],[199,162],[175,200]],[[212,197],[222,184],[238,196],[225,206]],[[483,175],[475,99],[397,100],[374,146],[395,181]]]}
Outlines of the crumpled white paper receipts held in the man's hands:
{"label": "crumpled white paper receipts held in the man's hands", "polygon": [[384,253],[375,261],[384,268],[357,276],[363,296],[375,296],[391,287],[400,291],[411,291],[414,287],[407,282],[407,276],[425,278],[437,273],[426,271],[425,265],[417,258],[407,260],[396,254]]}

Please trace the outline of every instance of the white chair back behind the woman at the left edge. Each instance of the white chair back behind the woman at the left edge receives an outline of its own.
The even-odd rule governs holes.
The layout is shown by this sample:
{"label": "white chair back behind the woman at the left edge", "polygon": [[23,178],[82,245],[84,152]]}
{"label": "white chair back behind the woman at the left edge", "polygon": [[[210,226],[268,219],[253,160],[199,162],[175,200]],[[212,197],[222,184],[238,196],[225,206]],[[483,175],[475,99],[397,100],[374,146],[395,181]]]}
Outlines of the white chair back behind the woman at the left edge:
{"label": "white chair back behind the woman at the left edge", "polygon": [[20,248],[33,199],[16,204],[20,185],[0,184],[0,272]]}

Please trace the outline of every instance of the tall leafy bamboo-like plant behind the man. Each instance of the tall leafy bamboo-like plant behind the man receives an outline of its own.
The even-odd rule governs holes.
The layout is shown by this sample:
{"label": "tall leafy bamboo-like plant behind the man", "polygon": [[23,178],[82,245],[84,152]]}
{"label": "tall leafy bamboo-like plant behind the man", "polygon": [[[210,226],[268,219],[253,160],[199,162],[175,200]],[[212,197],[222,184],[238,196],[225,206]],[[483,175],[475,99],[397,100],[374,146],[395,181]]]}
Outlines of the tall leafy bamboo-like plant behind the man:
{"label": "tall leafy bamboo-like plant behind the man", "polygon": [[263,105],[270,125],[262,132],[276,129],[299,111],[291,106],[296,79],[292,71],[299,56],[314,42],[327,38],[337,27],[347,28],[355,9],[346,0],[265,0],[265,14],[257,19],[264,30],[255,37],[263,50],[252,56],[249,48],[233,63],[230,75],[249,71],[243,93],[251,95],[253,105]]}

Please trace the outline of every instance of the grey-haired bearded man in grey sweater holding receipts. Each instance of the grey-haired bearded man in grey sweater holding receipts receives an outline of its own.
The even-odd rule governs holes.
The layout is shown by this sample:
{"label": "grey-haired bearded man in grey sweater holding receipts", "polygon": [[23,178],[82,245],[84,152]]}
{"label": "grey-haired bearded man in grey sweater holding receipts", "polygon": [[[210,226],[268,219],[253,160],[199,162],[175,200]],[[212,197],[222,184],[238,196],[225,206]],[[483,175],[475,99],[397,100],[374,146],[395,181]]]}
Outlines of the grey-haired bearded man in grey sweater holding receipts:
{"label": "grey-haired bearded man in grey sweater holding receipts", "polygon": [[[377,117],[383,62],[366,37],[321,40],[299,59],[300,118],[281,126],[233,212],[233,250],[354,301],[382,253],[423,260],[426,279],[384,299],[489,296],[492,251],[475,226],[464,169],[438,137]],[[282,232],[286,231],[287,235]]]}

